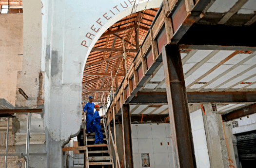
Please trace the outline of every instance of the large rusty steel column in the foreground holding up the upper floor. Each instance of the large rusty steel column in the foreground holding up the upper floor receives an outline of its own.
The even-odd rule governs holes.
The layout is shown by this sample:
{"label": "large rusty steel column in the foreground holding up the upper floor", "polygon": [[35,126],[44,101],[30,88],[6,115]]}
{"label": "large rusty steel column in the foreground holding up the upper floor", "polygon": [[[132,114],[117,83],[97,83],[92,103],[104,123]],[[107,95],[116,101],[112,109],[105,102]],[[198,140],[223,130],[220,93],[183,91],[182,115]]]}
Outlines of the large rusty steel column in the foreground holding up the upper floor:
{"label": "large rusty steel column in the foreground holding up the upper floor", "polygon": [[177,45],[162,47],[175,168],[197,168],[182,62]]}

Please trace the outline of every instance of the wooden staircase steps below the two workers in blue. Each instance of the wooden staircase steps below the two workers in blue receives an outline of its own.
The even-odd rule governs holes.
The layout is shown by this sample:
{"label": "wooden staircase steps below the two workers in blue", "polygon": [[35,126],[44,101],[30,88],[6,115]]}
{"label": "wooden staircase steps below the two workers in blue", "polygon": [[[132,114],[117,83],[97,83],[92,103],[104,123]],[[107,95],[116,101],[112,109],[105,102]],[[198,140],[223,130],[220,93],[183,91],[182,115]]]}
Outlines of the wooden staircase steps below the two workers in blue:
{"label": "wooden staircase steps below the two workers in blue", "polygon": [[[84,158],[85,168],[114,168],[103,124],[101,124],[101,129],[105,144],[94,145],[95,132],[91,134],[86,133],[86,136],[84,136],[84,144],[87,144],[88,149]],[[84,130],[84,134],[85,132]]]}

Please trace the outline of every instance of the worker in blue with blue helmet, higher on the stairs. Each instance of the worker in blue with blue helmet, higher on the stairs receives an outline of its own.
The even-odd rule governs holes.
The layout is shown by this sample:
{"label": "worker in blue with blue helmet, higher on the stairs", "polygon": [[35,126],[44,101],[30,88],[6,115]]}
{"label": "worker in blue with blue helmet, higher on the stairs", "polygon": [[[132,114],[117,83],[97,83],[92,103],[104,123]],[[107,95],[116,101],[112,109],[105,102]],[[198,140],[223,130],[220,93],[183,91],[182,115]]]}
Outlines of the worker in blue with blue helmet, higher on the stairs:
{"label": "worker in blue with blue helmet, higher on the stairs", "polygon": [[86,132],[91,134],[94,132],[94,125],[93,125],[93,114],[94,114],[94,103],[93,97],[89,96],[89,102],[83,108],[83,112],[86,111]]}

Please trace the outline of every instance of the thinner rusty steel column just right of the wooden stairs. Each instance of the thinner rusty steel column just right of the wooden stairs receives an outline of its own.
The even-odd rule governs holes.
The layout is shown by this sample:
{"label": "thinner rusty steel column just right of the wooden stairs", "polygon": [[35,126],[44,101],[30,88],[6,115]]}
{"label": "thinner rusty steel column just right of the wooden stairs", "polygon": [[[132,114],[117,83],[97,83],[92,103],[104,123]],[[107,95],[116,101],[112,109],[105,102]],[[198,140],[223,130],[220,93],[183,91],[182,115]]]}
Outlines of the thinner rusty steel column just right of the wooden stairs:
{"label": "thinner rusty steel column just right of the wooden stairs", "polygon": [[122,104],[124,168],[133,168],[131,117],[128,104]]}

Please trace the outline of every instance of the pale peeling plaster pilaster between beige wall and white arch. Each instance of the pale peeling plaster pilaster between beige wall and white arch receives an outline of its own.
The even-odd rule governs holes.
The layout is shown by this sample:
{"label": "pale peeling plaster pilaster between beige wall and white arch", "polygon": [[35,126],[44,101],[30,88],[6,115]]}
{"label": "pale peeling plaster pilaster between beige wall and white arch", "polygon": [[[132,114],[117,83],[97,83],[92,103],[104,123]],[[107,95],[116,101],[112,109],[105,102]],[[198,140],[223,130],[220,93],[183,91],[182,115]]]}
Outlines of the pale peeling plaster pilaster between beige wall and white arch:
{"label": "pale peeling plaster pilaster between beige wall and white arch", "polygon": [[17,88],[27,95],[26,100],[17,90],[16,106],[36,108],[41,73],[41,2],[23,2],[23,65],[18,74]]}

